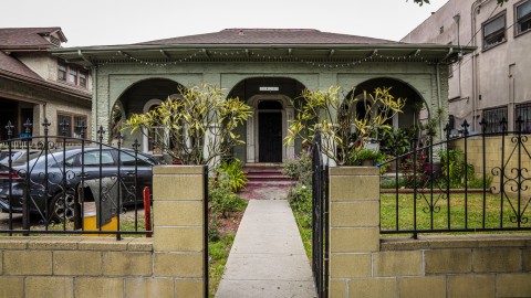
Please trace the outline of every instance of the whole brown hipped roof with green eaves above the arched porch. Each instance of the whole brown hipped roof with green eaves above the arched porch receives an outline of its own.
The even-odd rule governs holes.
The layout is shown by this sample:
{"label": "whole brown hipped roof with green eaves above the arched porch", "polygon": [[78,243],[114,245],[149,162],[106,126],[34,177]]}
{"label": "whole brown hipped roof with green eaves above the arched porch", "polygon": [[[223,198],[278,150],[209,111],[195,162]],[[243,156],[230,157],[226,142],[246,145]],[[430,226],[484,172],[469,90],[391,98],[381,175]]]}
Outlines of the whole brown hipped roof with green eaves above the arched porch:
{"label": "whole brown hipped roof with green eaves above the arched porch", "polygon": [[138,44],[53,49],[70,63],[371,61],[454,62],[472,46],[410,44],[311,29],[227,29]]}

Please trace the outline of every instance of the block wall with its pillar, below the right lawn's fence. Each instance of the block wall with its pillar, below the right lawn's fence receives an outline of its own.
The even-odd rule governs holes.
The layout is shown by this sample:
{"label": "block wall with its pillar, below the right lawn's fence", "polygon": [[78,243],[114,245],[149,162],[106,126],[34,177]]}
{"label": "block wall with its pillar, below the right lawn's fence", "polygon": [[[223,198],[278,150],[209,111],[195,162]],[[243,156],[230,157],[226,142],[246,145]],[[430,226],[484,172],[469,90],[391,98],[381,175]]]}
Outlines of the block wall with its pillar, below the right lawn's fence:
{"label": "block wall with its pillar, below the right lawn's fence", "polygon": [[379,171],[330,169],[330,297],[531,297],[531,234],[379,235]]}

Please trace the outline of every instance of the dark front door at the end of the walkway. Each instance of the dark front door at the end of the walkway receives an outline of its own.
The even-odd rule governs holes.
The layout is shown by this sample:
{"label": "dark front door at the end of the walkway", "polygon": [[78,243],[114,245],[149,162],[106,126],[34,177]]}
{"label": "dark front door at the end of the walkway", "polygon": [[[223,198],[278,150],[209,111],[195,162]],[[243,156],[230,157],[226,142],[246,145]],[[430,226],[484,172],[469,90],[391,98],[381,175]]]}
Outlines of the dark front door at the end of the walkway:
{"label": "dark front door at the end of the walkway", "polygon": [[282,162],[282,113],[260,113],[258,131],[259,161]]}

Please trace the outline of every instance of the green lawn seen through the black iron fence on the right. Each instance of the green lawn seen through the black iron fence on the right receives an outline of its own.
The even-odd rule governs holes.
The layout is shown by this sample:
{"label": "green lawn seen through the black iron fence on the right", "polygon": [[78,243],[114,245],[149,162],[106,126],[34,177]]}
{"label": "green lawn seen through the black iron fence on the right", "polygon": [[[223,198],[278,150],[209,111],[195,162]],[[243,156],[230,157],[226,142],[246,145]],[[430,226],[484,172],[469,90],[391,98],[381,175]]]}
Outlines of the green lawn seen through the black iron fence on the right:
{"label": "green lawn seen through the black iron fence on the right", "polygon": [[[521,209],[525,206],[528,199],[522,198]],[[503,200],[503,216],[500,215],[500,195],[488,193],[485,199],[485,227],[499,228],[500,219],[502,217],[503,227],[517,227],[511,222],[514,212],[511,207],[512,202],[514,209],[518,209],[518,200],[516,198]],[[510,202],[509,202],[510,201]],[[482,228],[483,227],[483,194],[469,193],[467,196],[468,213],[465,214],[465,194],[450,193],[450,200],[446,198],[446,193],[417,193],[417,230],[440,230],[448,228],[448,202],[450,215],[450,228]],[[436,212],[430,212],[430,205]],[[523,213],[524,216],[531,217],[531,210]],[[398,195],[398,227],[399,230],[414,228],[414,194]],[[467,225],[465,224],[467,219]],[[521,226],[531,227],[531,221],[522,223]],[[396,194],[381,194],[381,228],[382,231],[396,228]],[[506,232],[503,232],[506,233]]]}

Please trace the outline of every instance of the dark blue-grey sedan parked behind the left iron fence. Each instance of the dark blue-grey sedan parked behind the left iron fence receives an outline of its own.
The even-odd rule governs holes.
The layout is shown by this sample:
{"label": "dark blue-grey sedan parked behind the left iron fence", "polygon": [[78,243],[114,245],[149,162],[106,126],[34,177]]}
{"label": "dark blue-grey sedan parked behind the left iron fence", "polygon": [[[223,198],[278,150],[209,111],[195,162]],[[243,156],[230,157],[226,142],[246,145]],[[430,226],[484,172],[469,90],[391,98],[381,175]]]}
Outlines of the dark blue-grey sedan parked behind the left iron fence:
{"label": "dark blue-grey sedan parked behind the left iron fence", "polygon": [[[48,157],[48,158],[46,158]],[[25,191],[29,191],[30,212],[44,221],[73,220],[76,202],[105,200],[106,194],[119,187],[122,205],[142,203],[144,187],[152,187],[152,168],[159,161],[131,149],[87,147],[44,152],[12,164],[11,185],[9,168],[0,164],[0,209],[13,213],[23,211]],[[136,169],[136,170],[135,170]],[[27,174],[29,172],[29,174]],[[83,184],[82,184],[83,181]],[[93,183],[90,183],[90,182]],[[94,181],[106,181],[94,183]],[[108,181],[114,181],[110,184]],[[102,185],[98,190],[93,185]],[[92,185],[92,187],[91,187]],[[136,188],[135,188],[136,185]],[[11,205],[9,190],[11,189]],[[95,194],[95,195],[94,195]],[[103,201],[102,200],[102,201]],[[48,202],[48,207],[46,207]],[[79,204],[77,204],[79,205]]]}

